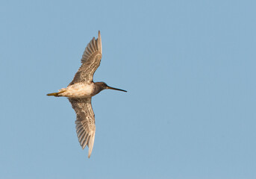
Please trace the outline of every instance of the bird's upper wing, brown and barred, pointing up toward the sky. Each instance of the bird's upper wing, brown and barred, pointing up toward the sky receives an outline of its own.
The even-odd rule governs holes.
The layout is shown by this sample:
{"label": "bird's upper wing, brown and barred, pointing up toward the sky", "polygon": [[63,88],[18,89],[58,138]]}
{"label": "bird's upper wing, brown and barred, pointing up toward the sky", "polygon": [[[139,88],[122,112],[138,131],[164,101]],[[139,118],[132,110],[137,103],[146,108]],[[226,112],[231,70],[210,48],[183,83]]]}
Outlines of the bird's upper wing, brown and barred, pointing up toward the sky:
{"label": "bird's upper wing, brown and barred, pointing up toward the sky", "polygon": [[98,69],[102,60],[102,38],[99,31],[98,39],[93,37],[93,40],[88,43],[87,48],[84,50],[83,57],[81,59],[81,67],[76,72],[73,81],[69,84],[75,84],[78,82],[90,82],[93,81],[93,74]]}

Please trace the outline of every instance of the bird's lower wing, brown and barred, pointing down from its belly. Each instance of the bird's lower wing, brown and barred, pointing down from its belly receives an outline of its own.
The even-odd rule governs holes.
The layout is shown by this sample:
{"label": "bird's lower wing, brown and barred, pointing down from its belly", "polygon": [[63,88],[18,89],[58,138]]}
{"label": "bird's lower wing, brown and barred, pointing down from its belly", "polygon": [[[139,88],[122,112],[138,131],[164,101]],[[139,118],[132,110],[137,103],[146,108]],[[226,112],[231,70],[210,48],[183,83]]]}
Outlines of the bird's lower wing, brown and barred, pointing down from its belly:
{"label": "bird's lower wing, brown and barred, pointing down from its belly", "polygon": [[88,145],[88,157],[93,151],[95,137],[95,118],[91,98],[69,98],[76,113],[75,128],[81,147]]}

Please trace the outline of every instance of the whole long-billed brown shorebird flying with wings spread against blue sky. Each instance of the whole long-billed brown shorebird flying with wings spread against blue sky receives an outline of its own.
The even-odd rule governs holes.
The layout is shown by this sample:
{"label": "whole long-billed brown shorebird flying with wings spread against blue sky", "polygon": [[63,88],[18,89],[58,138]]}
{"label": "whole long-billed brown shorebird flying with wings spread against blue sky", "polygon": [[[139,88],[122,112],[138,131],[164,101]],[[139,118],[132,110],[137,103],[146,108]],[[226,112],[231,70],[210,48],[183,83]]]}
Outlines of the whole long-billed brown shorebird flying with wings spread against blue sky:
{"label": "whole long-billed brown shorebird flying with wings spread against blue sky", "polygon": [[102,90],[121,90],[118,88],[108,87],[104,82],[93,82],[93,75],[98,69],[102,60],[102,38],[99,31],[98,39],[88,43],[81,59],[81,67],[76,72],[73,81],[66,88],[62,88],[59,92],[49,93],[56,97],[69,98],[72,108],[76,113],[75,128],[78,135],[78,141],[84,149],[88,146],[88,157],[93,151],[93,143],[95,138],[95,116],[91,104],[92,96],[98,94]]}

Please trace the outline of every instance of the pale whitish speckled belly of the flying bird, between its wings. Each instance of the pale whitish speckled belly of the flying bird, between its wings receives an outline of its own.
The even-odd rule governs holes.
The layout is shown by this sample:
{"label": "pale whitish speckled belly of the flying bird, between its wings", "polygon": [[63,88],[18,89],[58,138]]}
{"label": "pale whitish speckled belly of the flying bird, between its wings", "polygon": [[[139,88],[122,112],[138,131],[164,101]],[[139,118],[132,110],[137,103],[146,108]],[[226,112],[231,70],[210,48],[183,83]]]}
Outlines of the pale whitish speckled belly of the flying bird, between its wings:
{"label": "pale whitish speckled belly of the flying bird, between its wings", "polygon": [[93,84],[73,84],[65,89],[62,95],[69,98],[87,98],[93,95]]}

